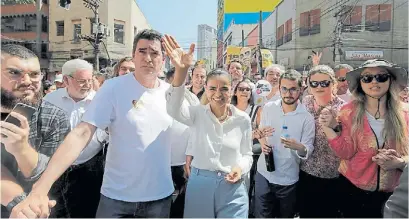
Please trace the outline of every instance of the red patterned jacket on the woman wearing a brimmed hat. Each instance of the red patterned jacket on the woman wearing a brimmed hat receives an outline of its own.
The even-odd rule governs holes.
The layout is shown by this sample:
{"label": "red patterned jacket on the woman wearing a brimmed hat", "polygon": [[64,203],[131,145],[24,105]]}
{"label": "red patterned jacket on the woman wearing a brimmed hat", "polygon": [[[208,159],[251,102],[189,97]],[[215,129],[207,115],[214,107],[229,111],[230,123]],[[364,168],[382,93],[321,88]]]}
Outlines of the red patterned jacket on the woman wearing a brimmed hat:
{"label": "red patterned jacket on the woman wearing a brimmed hat", "polygon": [[[363,118],[364,128],[351,133],[352,118],[355,116],[355,111],[352,102],[342,107],[338,114],[342,124],[341,135],[328,140],[332,150],[341,158],[338,170],[360,189],[392,192],[399,184],[401,171],[397,169],[385,171],[372,161],[372,157],[378,153],[378,148],[382,148],[383,145],[378,146],[376,135],[373,133],[366,116]],[[409,127],[408,111],[403,111],[403,113],[407,127]],[[405,131],[406,136],[408,136],[408,129]],[[396,150],[396,144],[386,140],[383,148]],[[401,154],[401,156],[406,156],[405,159],[407,160],[407,153]]]}

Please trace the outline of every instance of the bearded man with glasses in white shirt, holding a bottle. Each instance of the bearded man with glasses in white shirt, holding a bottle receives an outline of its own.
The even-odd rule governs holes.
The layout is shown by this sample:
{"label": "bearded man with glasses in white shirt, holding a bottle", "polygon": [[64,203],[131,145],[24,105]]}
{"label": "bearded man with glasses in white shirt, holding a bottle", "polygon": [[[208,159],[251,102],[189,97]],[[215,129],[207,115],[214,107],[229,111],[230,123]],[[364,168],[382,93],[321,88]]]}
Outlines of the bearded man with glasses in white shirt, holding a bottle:
{"label": "bearded man with glasses in white shirt, holding a bottle", "polygon": [[[301,75],[286,72],[280,77],[279,88],[282,100],[267,103],[261,115],[260,126],[271,127],[275,132],[260,139],[265,156],[260,156],[255,176],[257,218],[294,217],[300,159],[307,159],[314,149],[314,118],[298,101]],[[287,136],[282,138],[285,127]],[[275,170],[269,172],[265,157],[271,156],[271,150]]]}

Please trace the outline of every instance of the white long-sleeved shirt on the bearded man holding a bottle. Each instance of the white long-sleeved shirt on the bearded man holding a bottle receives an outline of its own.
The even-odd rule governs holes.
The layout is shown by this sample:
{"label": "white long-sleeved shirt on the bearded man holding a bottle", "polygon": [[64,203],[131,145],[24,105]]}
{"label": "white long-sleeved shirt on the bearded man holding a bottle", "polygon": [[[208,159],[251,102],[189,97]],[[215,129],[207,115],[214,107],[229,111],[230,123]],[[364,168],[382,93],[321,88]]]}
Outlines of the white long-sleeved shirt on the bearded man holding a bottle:
{"label": "white long-sleeved shirt on the bearded man holding a bottle", "polygon": [[[295,150],[285,148],[281,143],[280,137],[284,124],[288,127],[289,138],[295,139],[306,147],[307,155],[305,157],[299,156]],[[267,103],[263,108],[260,127],[268,126],[275,129],[273,135],[267,138],[267,143],[273,147],[275,171],[267,171],[264,154],[257,162],[257,171],[270,183],[283,186],[293,185],[298,181],[300,159],[307,159],[314,150],[314,117],[300,103],[295,111],[284,113],[281,100],[277,100]]]}

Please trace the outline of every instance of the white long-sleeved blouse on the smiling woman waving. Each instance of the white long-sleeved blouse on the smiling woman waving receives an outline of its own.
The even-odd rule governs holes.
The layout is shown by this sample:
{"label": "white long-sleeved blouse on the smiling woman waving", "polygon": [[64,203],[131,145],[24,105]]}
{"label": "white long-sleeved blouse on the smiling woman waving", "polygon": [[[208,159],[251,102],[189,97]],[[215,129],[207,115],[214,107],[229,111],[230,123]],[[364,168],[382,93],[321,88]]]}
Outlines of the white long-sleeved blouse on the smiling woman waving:
{"label": "white long-sleeved blouse on the smiling woman waving", "polygon": [[177,121],[192,127],[190,141],[192,166],[231,172],[240,167],[242,174],[250,171],[252,158],[252,129],[250,117],[234,106],[232,115],[220,123],[210,105],[186,106],[183,103],[185,87],[170,87],[166,92],[167,111]]}

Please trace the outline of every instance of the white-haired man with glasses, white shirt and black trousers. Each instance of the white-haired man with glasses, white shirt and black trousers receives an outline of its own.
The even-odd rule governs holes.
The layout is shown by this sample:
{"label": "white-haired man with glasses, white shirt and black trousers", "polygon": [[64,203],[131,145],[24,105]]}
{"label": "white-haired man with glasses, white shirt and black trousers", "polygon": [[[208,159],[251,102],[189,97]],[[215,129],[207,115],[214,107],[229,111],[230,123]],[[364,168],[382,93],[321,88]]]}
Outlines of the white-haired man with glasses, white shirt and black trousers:
{"label": "white-haired man with glasses, white shirt and black trousers", "polygon": [[[67,87],[47,94],[44,99],[70,116],[73,129],[95,96],[92,89],[93,67],[85,60],[73,59],[62,66],[62,75]],[[63,175],[67,217],[95,217],[104,172],[102,142],[105,138],[105,132],[97,129],[88,146]]]}

